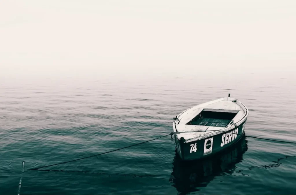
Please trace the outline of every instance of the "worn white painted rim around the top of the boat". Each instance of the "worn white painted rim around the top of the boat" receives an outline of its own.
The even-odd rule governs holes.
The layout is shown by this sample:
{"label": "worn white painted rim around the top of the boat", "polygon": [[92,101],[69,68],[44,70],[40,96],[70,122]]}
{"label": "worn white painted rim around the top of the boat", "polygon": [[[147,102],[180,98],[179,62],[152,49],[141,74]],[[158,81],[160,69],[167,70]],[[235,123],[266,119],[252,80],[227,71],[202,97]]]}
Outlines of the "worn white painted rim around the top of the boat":
{"label": "worn white painted rim around the top of the boat", "polygon": [[[181,112],[179,115],[178,115],[178,117],[177,118],[179,118],[180,117],[180,121],[173,121],[173,131],[174,132],[177,132],[176,131],[176,125],[178,125],[178,123],[180,123],[181,122],[181,119],[183,118],[183,114],[185,113],[186,114],[186,112],[187,111],[189,111],[190,109],[193,109],[194,108],[194,110],[195,109],[197,109],[197,108],[202,108],[202,107],[205,107],[205,106],[207,106],[207,105],[210,105],[210,104],[214,104],[214,103],[217,103],[217,102],[220,102],[220,101],[223,101],[223,100],[227,100],[227,101],[234,101],[234,100],[236,100],[236,104],[237,105],[239,105],[239,107],[242,109],[242,111],[244,112],[244,114],[240,117],[240,118],[238,118],[237,119],[237,122],[235,122],[234,124],[231,124],[231,125],[229,125],[229,126],[226,126],[226,127],[224,127],[224,128],[220,128],[220,127],[215,127],[214,129],[215,130],[219,130],[219,131],[208,131],[208,132],[204,132],[204,134],[201,134],[201,135],[192,135],[192,138],[189,138],[189,139],[185,139],[185,142],[193,142],[193,141],[197,141],[197,140],[200,140],[200,139],[205,139],[205,138],[207,138],[207,137],[213,137],[213,136],[215,136],[215,135],[218,135],[218,134],[221,134],[221,133],[224,133],[224,132],[226,132],[226,131],[229,131],[229,130],[231,130],[231,129],[234,129],[235,128],[235,126],[239,126],[240,124],[242,124],[244,121],[246,121],[247,120],[247,117],[248,117],[248,115],[249,115],[249,110],[247,109],[247,107],[244,105],[244,104],[242,104],[242,102],[240,102],[238,99],[235,99],[235,98],[231,98],[231,97],[226,97],[226,98],[220,98],[220,99],[216,99],[216,100],[213,100],[213,101],[210,101],[210,102],[205,102],[205,103],[203,103],[203,104],[199,104],[199,105],[196,105],[196,106],[194,106],[194,107],[191,107],[191,108],[189,108],[189,109],[187,109],[187,110],[185,110],[185,111],[183,111],[183,112]],[[190,113],[190,112],[189,112]],[[195,114],[195,112],[191,112],[193,115]],[[194,118],[196,115],[194,115],[193,116],[192,115],[192,118]],[[182,117],[182,118],[181,118]],[[188,118],[190,118],[190,117],[188,117]],[[191,120],[191,119],[190,119]],[[189,121],[190,121],[189,120]],[[186,120],[187,121],[187,120]],[[189,122],[188,121],[188,122]],[[183,123],[183,122],[182,122]],[[186,122],[187,123],[187,122]],[[200,126],[199,126],[200,127]],[[196,128],[195,126],[192,126],[192,128]],[[203,128],[208,128],[207,126],[203,126]],[[213,130],[214,130],[213,129]],[[202,128],[200,129],[200,130],[203,130]],[[181,131],[178,131],[179,133],[178,134],[176,134],[176,137],[177,137],[177,139],[179,139],[180,140],[180,138],[181,137],[184,137],[184,134],[192,134],[192,133],[194,133],[194,132],[192,132],[192,133],[182,133],[182,130]],[[198,132],[197,132],[198,133]],[[183,135],[182,135],[183,134]]]}

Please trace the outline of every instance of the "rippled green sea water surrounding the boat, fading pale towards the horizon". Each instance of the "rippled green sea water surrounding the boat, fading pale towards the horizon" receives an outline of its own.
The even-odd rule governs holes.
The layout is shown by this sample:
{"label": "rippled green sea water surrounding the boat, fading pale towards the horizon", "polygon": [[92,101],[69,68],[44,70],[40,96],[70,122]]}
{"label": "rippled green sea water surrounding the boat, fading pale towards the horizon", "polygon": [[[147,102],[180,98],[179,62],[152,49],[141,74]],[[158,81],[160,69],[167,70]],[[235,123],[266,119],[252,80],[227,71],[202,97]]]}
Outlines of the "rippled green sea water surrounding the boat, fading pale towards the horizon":
{"label": "rippled green sea water surrounding the boat, fading pale towards the horizon", "polygon": [[169,134],[174,116],[228,93],[250,110],[247,135],[296,142],[295,89],[292,77],[266,79],[254,74],[4,80],[0,194],[17,194],[22,161],[20,194],[295,194],[296,145],[253,138],[244,141],[244,152],[224,156],[230,160],[223,165],[213,160],[211,165],[184,167],[175,159],[170,137],[165,137],[46,168],[63,172],[26,170]]}

